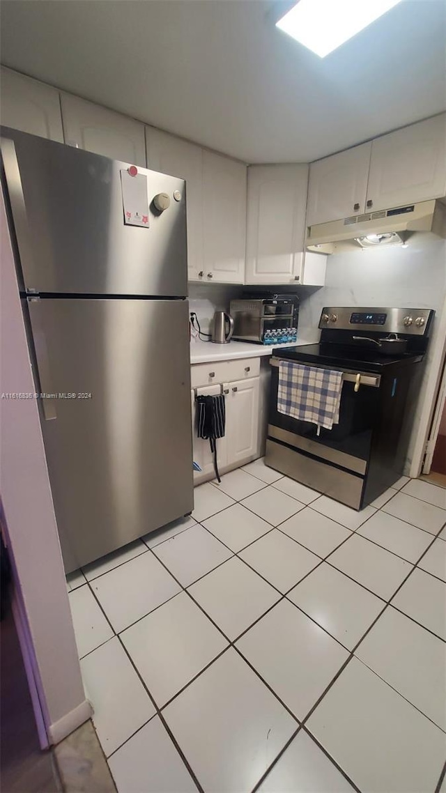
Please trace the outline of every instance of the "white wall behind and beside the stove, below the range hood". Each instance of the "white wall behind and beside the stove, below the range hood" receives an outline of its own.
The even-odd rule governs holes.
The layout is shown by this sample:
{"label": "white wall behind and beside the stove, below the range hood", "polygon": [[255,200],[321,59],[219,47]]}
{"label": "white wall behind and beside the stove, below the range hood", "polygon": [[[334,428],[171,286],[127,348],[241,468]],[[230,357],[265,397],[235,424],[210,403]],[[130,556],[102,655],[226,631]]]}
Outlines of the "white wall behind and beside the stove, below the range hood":
{"label": "white wall behind and beside the stove, below the range hood", "polygon": [[[317,324],[326,306],[434,308],[436,317],[429,342],[425,377],[421,385],[406,471],[413,458],[420,423],[429,423],[430,405],[423,404],[430,366],[443,345],[444,299],[446,295],[446,242],[425,234],[414,235],[408,247],[353,251],[329,256],[325,287],[302,303],[299,333],[310,341],[319,338]],[[426,400],[430,401],[430,400]]]}

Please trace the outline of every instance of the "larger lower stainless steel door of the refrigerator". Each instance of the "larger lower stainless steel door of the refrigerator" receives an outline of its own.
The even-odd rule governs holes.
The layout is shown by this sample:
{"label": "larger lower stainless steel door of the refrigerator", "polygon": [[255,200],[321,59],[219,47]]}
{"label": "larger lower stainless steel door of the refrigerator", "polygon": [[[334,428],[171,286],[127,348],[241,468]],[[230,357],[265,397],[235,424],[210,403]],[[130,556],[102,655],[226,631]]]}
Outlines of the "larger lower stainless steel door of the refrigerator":
{"label": "larger lower stainless steel door of the refrigerator", "polygon": [[40,414],[70,572],[193,509],[189,307],[84,298],[28,305],[40,339],[37,390],[45,378],[52,384],[55,415]]}

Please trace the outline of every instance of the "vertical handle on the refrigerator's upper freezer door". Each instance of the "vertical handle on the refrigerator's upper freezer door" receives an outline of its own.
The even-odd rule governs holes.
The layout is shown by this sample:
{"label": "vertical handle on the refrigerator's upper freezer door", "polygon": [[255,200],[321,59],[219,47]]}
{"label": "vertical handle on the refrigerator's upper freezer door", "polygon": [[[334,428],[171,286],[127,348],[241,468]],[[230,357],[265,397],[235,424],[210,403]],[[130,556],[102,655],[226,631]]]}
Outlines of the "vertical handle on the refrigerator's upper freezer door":
{"label": "vertical handle on the refrigerator's upper freezer door", "polygon": [[[21,186],[20,168],[18,167],[16,147],[10,138],[0,138],[0,148],[2,150],[3,168],[5,170],[6,183],[10,195],[10,203],[13,214],[13,224],[19,248],[22,269],[28,273],[35,273],[32,246],[29,241],[28,217],[26,214],[25,196]],[[29,287],[29,284],[27,284]]]}

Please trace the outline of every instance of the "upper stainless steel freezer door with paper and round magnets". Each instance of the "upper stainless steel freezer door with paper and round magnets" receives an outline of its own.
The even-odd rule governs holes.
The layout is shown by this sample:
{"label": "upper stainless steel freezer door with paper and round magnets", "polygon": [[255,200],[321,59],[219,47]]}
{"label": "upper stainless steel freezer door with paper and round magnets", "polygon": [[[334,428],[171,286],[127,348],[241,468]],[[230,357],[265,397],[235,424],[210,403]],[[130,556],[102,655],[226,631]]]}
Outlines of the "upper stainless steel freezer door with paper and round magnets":
{"label": "upper stainless steel freezer door with paper and round magnets", "polygon": [[[137,195],[133,200],[128,163],[6,128],[2,160],[26,289],[152,297],[187,294],[183,179],[133,167],[135,187],[138,182],[144,186],[146,178],[148,201],[141,202]],[[175,191],[179,201],[173,197]],[[160,193],[171,199],[164,211],[154,203]],[[136,225],[125,223],[133,205],[140,215]]]}

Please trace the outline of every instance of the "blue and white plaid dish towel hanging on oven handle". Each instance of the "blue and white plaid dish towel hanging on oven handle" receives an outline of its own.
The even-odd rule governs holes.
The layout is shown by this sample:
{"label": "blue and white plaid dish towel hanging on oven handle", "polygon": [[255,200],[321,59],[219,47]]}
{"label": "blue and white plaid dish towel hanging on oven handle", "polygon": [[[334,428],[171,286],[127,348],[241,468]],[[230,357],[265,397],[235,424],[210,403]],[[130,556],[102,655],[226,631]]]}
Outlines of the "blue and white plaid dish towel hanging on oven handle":
{"label": "blue and white plaid dish towel hanging on oven handle", "polygon": [[280,361],[279,413],[317,424],[317,435],[321,427],[331,430],[339,423],[342,377],[342,372]]}

